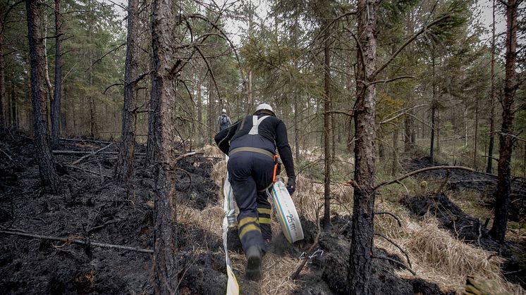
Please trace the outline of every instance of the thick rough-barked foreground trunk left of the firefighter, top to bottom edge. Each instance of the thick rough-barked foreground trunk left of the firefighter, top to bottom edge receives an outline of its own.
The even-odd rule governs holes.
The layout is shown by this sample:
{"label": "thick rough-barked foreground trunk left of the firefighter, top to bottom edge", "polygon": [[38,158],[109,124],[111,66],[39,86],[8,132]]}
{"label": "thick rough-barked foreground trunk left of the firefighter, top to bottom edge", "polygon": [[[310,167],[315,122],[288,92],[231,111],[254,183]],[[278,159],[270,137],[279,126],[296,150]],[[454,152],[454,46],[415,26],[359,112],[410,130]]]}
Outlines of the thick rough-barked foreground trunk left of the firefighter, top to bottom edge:
{"label": "thick rough-barked foreground trunk left of the firefighter, top to bottom edge", "polygon": [[[152,100],[154,111],[154,144],[157,153],[154,194],[153,280],[155,294],[176,294],[178,286],[176,189],[173,174],[173,66],[175,55],[172,32],[173,1],[154,0],[152,6],[152,49],[154,75]],[[178,11],[176,9],[175,11]]]}

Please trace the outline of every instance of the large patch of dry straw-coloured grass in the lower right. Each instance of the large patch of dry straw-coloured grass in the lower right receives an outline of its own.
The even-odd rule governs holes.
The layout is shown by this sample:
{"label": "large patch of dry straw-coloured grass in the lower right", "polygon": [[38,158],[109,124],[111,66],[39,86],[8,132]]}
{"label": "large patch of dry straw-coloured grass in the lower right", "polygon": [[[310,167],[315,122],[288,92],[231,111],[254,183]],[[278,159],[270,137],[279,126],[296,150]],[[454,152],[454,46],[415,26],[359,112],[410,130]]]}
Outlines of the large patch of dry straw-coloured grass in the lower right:
{"label": "large patch of dry straw-coloured grass in the lower right", "polygon": [[[382,203],[377,206],[376,211],[395,213],[400,218],[402,227],[398,227],[396,220],[389,215],[378,215],[375,218],[376,232],[389,237],[408,253],[412,270],[417,273],[417,277],[434,282],[442,291],[455,291],[458,294],[464,290],[467,275],[486,282],[490,294],[525,294],[519,285],[511,284],[503,278],[500,269],[503,258],[496,253],[455,239],[449,232],[438,227],[438,221],[434,217],[412,220],[403,208],[395,206],[392,203]],[[406,263],[404,254],[389,241],[375,237],[374,244],[389,253],[396,253]],[[408,270],[400,270],[396,274],[404,278],[413,277]]]}

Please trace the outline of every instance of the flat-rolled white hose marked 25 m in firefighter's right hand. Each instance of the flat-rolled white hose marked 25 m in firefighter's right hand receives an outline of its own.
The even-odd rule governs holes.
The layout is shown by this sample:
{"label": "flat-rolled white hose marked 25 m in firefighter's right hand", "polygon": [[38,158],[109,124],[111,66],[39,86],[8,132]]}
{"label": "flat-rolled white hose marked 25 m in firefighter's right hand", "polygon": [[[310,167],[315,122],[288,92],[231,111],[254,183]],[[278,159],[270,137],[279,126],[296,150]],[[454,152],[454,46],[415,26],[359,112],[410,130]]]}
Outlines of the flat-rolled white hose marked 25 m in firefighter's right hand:
{"label": "flat-rolled white hose marked 25 m in firefighter's right hand", "polygon": [[281,230],[287,241],[294,243],[303,239],[300,217],[281,177],[276,177],[276,182],[272,185],[271,196],[274,202],[274,210],[281,224]]}

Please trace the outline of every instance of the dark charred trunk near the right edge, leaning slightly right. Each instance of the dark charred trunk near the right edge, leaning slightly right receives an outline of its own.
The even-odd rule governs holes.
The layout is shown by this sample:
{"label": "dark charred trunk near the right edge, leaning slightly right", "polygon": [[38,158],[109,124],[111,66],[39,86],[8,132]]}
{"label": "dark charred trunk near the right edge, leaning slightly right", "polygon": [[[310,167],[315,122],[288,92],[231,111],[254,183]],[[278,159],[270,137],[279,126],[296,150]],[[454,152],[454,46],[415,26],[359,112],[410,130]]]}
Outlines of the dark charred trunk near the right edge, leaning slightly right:
{"label": "dark charred trunk near the right edge, leaning slightly right", "polygon": [[502,101],[502,127],[499,135],[499,176],[495,201],[495,218],[491,227],[491,237],[503,243],[508,224],[508,208],[511,192],[510,161],[513,151],[513,113],[515,102],[515,60],[517,58],[517,0],[509,0],[506,4],[506,80],[504,98]]}

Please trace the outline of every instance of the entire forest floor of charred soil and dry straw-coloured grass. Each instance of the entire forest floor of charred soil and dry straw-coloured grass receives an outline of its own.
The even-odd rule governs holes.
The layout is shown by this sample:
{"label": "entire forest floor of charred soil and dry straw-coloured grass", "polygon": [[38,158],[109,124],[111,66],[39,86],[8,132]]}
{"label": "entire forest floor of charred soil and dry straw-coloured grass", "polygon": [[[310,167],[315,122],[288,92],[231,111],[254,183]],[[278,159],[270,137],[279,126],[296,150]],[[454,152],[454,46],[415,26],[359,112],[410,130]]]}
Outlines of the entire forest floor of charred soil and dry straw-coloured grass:
{"label": "entire forest floor of charred soil and dry straw-coloured grass", "polygon": [[[91,152],[106,145],[104,142],[61,141],[59,149]],[[0,134],[0,149],[5,152],[0,153],[0,230],[87,241],[87,245],[78,245],[0,234],[0,293],[153,292],[150,253],[94,246],[96,243],[116,244],[136,250],[153,247],[152,175],[142,164],[142,157],[138,156],[129,186],[113,182],[111,175],[117,147],[113,144],[104,153],[85,158],[73,165],[76,168],[67,166],[82,155],[56,154],[54,158],[59,163],[64,189],[63,194],[55,196],[41,188],[32,140],[20,134]],[[178,168],[181,168],[176,186],[181,294],[224,294],[226,290],[219,189],[226,165],[217,149],[208,146],[203,151],[204,154],[184,158],[178,163]],[[144,152],[144,146],[137,146],[136,153]],[[416,159],[408,164],[408,169],[433,165],[424,162]],[[440,183],[444,182],[441,180],[443,176],[425,177],[437,177],[436,182]],[[419,190],[417,183],[420,180],[416,179],[410,181],[414,189],[411,183],[408,184],[413,192],[411,196],[391,194],[386,190],[381,192],[377,211],[396,214],[400,225],[390,215],[378,215],[376,220],[379,236],[375,237],[377,248],[374,256],[379,259],[374,259],[373,265],[375,293],[455,293],[463,290],[466,275],[473,275],[490,293],[524,294],[524,289],[513,283],[524,279],[525,254],[507,249],[519,247],[524,251],[525,230],[519,227],[512,234],[513,240],[506,251],[494,245],[487,238],[484,225],[470,216],[487,214],[491,202],[486,198],[484,203],[477,203],[480,211],[469,212],[470,215],[464,213],[465,208],[473,206],[465,198],[459,200],[458,196],[462,195],[459,192],[473,189],[459,188],[458,181],[475,176],[459,177],[455,180],[450,177],[448,183],[457,187],[448,187],[447,194],[432,192],[432,184],[429,191]],[[243,294],[344,294],[347,289],[352,189],[334,184],[331,232],[322,232],[316,238],[320,221],[317,210],[323,202],[322,184],[301,175],[297,181],[294,200],[302,218],[305,239],[294,245],[288,244],[279,231],[279,223],[274,220],[275,250],[264,258],[261,282],[244,279],[245,258],[240,251],[240,242],[236,230],[229,232],[228,247]],[[481,192],[491,195],[487,194],[487,187],[475,188],[477,194],[467,194],[467,199],[477,200],[474,196]],[[455,207],[453,202],[460,203],[462,208]],[[441,208],[446,208],[446,211]],[[447,214],[439,214],[443,211]],[[523,218],[523,211],[519,211],[520,216]],[[393,246],[388,239],[404,251]],[[303,253],[314,242],[317,242],[314,250]],[[309,256],[307,264],[297,280],[289,280],[302,256]],[[507,276],[510,282],[503,272],[510,272]]]}

